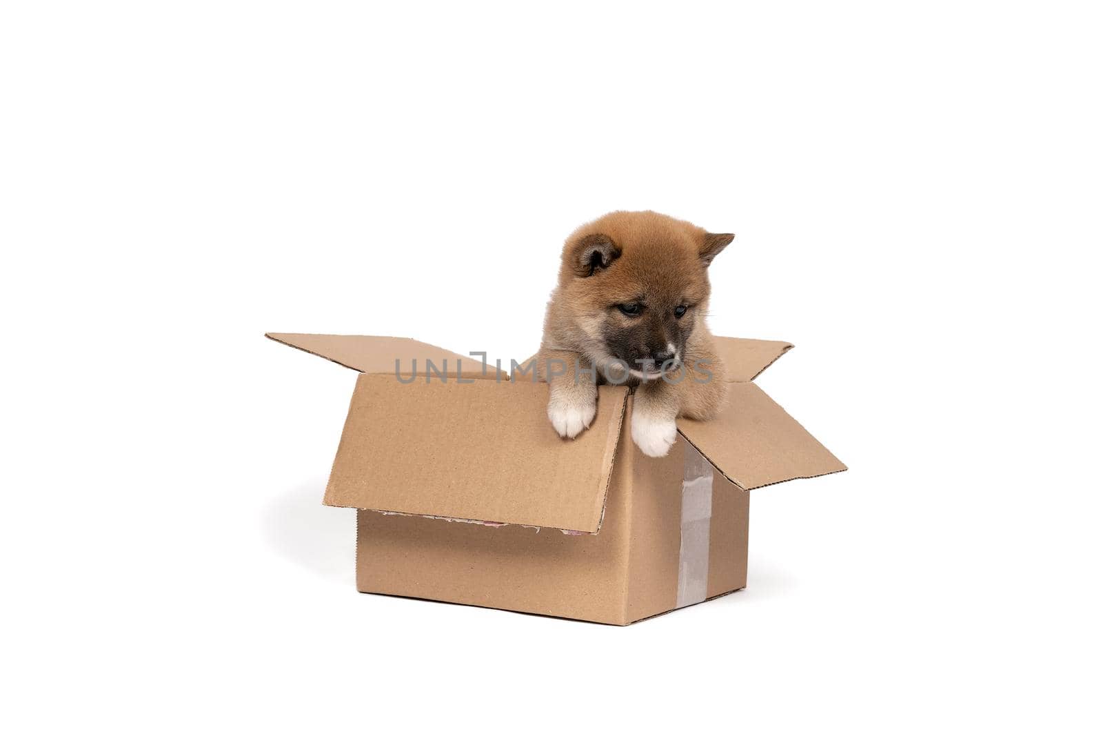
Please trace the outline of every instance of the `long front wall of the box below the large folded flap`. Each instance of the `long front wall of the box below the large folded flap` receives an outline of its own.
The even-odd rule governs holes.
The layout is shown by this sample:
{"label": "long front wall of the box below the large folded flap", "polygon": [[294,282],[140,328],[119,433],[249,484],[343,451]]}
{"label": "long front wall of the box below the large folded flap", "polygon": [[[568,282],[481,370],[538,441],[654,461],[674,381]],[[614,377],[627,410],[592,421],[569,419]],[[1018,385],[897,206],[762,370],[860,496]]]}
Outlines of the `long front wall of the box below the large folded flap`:
{"label": "long front wall of the box below the large folded flap", "polygon": [[357,511],[356,587],[624,625],[625,506],[614,472],[596,535]]}

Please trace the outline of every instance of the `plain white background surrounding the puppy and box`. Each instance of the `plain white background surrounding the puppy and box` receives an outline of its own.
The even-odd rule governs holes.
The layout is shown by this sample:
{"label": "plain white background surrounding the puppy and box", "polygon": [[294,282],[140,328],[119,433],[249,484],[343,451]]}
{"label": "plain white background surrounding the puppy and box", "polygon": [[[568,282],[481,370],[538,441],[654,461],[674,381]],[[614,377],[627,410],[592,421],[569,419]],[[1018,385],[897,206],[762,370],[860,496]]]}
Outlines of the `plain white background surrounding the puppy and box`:
{"label": "plain white background surrounding the puppy and box", "polygon": [[[1093,7],[1094,6],[1094,7]],[[1095,3],[11,2],[8,733],[1099,733]],[[522,358],[576,225],[738,238],[718,334],[850,471],[629,628],[381,596],[354,376]],[[325,729],[325,730],[321,730]]]}

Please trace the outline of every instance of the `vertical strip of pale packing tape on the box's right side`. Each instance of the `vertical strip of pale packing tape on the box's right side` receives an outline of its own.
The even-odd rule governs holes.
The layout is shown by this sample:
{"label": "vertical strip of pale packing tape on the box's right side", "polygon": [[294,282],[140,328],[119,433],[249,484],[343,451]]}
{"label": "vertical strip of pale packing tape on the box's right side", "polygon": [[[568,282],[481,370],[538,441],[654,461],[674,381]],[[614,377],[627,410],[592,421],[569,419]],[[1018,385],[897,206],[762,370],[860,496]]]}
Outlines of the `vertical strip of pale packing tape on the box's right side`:
{"label": "vertical strip of pale packing tape on the box's right side", "polygon": [[689,442],[682,474],[682,546],[678,550],[677,607],[708,595],[708,533],[713,525],[713,466]]}

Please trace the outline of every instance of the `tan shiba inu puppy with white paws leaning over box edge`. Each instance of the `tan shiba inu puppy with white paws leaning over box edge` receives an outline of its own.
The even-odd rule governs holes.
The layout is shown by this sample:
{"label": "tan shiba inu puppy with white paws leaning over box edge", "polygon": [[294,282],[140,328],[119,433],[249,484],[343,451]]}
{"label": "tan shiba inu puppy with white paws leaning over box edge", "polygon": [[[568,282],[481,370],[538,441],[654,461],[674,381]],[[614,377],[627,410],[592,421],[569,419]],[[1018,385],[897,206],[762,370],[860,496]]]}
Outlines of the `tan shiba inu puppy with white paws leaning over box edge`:
{"label": "tan shiba inu puppy with white paws leaning over box edge", "polygon": [[716,414],[725,382],[705,327],[707,269],[733,237],[656,212],[612,212],[567,238],[536,366],[561,437],[593,420],[598,383],[635,386],[632,439],[651,457],[674,444],[676,417]]}

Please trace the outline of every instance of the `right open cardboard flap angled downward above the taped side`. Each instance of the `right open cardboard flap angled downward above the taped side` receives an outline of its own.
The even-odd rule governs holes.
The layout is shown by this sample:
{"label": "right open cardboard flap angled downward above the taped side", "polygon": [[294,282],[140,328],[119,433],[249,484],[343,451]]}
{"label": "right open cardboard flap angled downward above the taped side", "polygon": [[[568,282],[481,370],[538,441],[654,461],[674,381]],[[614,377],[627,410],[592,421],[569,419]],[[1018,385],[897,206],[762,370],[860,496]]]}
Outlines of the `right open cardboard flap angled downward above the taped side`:
{"label": "right open cardboard flap angled downward above the taped side", "polygon": [[677,424],[690,445],[745,490],[846,470],[753,383],[731,384],[728,405],[715,419],[683,417]]}

